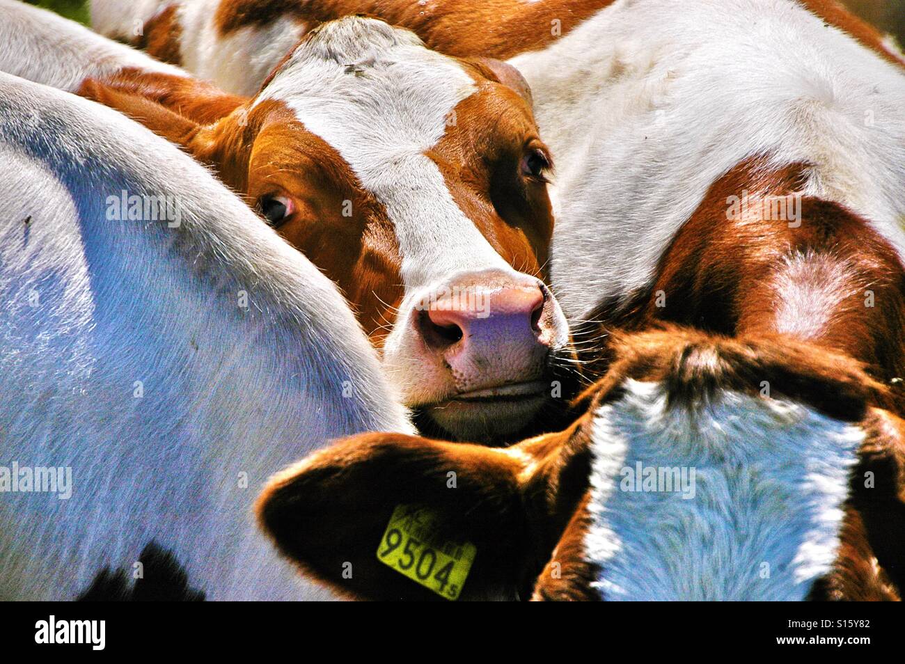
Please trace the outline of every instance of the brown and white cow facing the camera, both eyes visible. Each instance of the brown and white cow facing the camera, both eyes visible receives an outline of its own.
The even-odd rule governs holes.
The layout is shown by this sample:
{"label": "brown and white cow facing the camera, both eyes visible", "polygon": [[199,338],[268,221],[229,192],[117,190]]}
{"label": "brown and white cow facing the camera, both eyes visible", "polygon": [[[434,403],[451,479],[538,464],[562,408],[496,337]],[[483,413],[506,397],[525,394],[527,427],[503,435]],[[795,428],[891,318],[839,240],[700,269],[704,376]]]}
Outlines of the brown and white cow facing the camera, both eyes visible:
{"label": "brown and white cow facing the camera, both eyes visible", "polygon": [[575,372],[545,283],[551,159],[517,71],[349,16],[307,33],[246,99],[135,53],[99,74],[100,36],[2,4],[17,19],[0,28],[5,60],[53,84],[56,44],[93,44],[66,49],[88,74],[71,90],[214,166],[338,283],[425,432],[492,443],[555,428]]}

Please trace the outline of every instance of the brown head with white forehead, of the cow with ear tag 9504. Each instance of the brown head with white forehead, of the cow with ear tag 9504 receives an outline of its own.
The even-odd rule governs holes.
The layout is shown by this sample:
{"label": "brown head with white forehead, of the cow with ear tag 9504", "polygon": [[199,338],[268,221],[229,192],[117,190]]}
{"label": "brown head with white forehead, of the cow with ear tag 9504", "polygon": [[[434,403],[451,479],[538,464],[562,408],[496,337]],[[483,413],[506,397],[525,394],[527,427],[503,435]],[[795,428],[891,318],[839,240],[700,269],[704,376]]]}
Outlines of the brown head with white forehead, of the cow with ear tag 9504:
{"label": "brown head with white forehead, of the cow with ear tag 9504", "polygon": [[477,546],[466,599],[898,597],[905,422],[872,405],[880,385],[778,337],[670,330],[615,348],[567,431],[502,450],[357,436],[273,478],[262,526],[364,598],[431,596],[376,559],[397,504]]}

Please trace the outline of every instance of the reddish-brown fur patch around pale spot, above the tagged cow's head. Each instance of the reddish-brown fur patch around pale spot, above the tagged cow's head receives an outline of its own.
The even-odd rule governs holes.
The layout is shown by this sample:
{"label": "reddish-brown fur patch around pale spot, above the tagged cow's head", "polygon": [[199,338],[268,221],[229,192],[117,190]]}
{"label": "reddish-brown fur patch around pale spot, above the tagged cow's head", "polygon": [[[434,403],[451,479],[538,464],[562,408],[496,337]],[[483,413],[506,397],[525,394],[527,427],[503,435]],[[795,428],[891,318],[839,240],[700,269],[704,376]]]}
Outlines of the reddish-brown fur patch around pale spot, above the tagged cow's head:
{"label": "reddish-brown fur patch around pale spot, above the tagged cow's head", "polygon": [[[891,401],[884,405],[905,412],[905,394],[894,381],[905,375],[905,270],[889,242],[841,205],[806,196],[798,228],[751,215],[728,218],[729,196],[795,194],[807,171],[800,164],[776,169],[762,158],[733,168],[711,185],[674,236],[651,285],[624,303],[603,302],[588,317],[599,322],[579,330],[578,337],[662,322],[728,337],[770,337],[780,331],[776,282],[787,274],[785,259],[824,257],[843,265],[848,276],[826,324],[815,337],[801,340],[864,363],[876,380],[891,384]],[[868,290],[872,308],[865,306]],[[611,359],[612,349],[603,346],[586,357],[588,372],[604,373]]]}

